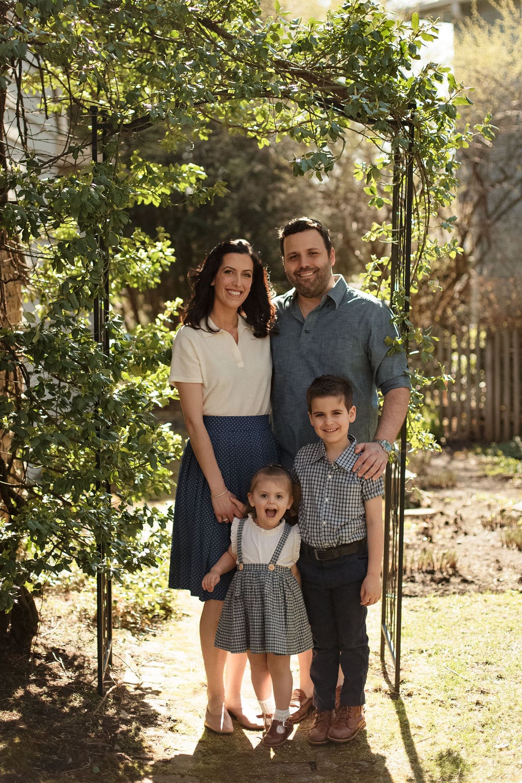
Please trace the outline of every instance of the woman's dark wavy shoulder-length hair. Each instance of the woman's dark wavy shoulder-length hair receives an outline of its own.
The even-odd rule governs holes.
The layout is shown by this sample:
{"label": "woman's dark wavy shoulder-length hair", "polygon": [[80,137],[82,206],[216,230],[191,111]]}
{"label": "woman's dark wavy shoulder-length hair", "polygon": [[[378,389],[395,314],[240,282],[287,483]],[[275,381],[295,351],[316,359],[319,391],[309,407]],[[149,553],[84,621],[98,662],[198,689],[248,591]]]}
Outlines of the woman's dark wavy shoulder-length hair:
{"label": "woman's dark wavy shoulder-length hair", "polygon": [[182,323],[193,329],[201,329],[201,321],[204,319],[207,331],[214,332],[208,323],[214,305],[215,276],[221,267],[221,262],[227,253],[240,253],[250,255],[254,265],[252,285],[243,305],[237,312],[244,316],[247,323],[254,329],[254,337],[266,337],[275,321],[275,307],[271,301],[271,289],[268,274],[261,263],[261,258],[250,246],[247,240],[227,240],[213,247],[207,258],[189,272],[189,280],[193,289],[189,304],[182,312]]}

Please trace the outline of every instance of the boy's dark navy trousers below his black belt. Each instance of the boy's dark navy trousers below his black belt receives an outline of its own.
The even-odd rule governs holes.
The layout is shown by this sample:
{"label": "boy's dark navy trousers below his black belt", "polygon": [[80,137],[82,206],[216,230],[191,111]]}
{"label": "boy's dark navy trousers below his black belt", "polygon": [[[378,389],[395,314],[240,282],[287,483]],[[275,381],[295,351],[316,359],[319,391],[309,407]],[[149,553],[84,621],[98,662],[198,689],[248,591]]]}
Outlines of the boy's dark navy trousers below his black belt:
{"label": "boy's dark navy trousers below his black belt", "polygon": [[355,554],[318,561],[305,555],[297,563],[314,649],[310,676],[317,709],[334,709],[339,666],[344,674],[340,704],[365,703],[369,647],[361,586],[368,570],[366,545]]}

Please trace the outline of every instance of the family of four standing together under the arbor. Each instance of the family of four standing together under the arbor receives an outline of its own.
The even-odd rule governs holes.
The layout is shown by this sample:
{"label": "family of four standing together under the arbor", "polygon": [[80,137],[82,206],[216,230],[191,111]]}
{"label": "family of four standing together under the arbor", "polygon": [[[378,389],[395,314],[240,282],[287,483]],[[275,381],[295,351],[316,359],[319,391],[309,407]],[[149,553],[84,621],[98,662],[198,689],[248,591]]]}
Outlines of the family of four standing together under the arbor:
{"label": "family of four standing together under the arbor", "polygon": [[[191,273],[170,376],[189,439],[169,585],[203,601],[204,724],[235,719],[272,748],[312,712],[312,745],[365,727],[382,474],[410,391],[390,310],[334,275],[326,226],[295,218],[279,243],[293,287],[277,298],[246,240]],[[247,658],[259,714],[241,700]]]}

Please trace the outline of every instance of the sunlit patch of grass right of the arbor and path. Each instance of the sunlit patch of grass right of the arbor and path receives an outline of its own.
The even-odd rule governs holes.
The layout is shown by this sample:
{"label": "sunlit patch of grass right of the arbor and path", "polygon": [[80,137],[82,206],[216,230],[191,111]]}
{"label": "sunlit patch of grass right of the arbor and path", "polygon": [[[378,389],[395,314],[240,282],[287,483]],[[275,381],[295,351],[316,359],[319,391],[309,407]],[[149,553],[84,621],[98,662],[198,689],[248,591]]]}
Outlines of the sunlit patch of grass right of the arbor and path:
{"label": "sunlit patch of grass right of the arbor and path", "polygon": [[404,601],[401,698],[372,716],[409,758],[394,780],[522,781],[521,612],[516,592]]}

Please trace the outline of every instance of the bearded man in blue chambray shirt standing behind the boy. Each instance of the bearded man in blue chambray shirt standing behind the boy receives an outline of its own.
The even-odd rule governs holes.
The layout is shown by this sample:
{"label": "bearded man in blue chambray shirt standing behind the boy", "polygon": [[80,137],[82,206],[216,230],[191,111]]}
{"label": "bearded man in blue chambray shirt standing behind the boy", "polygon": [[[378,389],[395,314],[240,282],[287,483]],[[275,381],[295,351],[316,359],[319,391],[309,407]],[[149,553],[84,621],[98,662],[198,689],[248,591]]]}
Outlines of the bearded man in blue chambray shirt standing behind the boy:
{"label": "bearded man in blue chambray shirt standing behind the boy", "polygon": [[[386,338],[398,331],[380,300],[333,275],[329,230],[312,218],[294,218],[279,229],[286,277],[293,289],[275,299],[272,333],[272,428],[284,467],[301,446],[316,440],[306,409],[315,377],[344,375],[354,387],[354,471],[377,478],[387,464],[408,410],[410,381],[403,353],[387,355]],[[378,416],[377,388],[383,393]]]}

